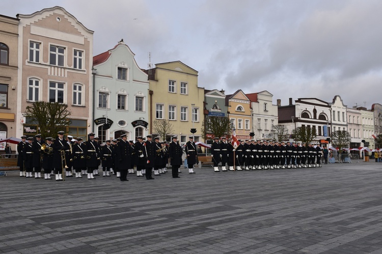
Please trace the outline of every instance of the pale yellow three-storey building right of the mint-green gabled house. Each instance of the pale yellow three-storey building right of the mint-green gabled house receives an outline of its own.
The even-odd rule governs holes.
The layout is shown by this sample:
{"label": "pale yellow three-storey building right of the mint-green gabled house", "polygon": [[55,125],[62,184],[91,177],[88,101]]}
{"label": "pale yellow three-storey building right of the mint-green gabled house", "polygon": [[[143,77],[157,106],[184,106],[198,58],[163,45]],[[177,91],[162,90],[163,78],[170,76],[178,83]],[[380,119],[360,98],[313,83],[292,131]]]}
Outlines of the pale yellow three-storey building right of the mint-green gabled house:
{"label": "pale yellow three-storey building right of the mint-green gabled house", "polygon": [[155,133],[154,121],[168,120],[172,131],[167,136],[177,135],[181,145],[192,135],[195,142],[201,140],[203,121],[204,88],[198,87],[198,71],[180,61],[156,64],[146,70],[149,75],[149,131]]}

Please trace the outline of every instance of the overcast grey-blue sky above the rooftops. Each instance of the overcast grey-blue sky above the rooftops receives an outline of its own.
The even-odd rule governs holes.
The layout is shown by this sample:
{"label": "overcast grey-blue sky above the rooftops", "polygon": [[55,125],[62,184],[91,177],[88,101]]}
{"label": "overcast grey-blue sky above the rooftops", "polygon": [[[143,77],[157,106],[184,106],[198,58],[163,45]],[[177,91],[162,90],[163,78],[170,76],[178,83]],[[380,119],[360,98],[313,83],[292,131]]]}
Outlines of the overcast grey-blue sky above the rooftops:
{"label": "overcast grey-blue sky above the rooftops", "polygon": [[2,0],[0,14],[53,6],[94,31],[93,55],[123,38],[141,68],[149,52],[152,64],[181,61],[199,87],[382,104],[380,0]]}

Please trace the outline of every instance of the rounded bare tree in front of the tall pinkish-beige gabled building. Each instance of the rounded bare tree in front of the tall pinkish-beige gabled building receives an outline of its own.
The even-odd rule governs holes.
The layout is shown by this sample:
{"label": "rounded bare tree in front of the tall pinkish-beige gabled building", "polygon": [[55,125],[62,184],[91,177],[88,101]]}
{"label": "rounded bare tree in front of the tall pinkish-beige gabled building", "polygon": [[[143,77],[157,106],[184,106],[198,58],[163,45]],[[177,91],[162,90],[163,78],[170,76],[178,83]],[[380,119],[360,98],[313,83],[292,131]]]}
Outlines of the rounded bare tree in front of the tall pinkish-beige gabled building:
{"label": "rounded bare tree in front of the tall pinkish-beige gabled building", "polygon": [[43,137],[54,137],[57,132],[66,131],[72,123],[68,105],[58,102],[37,101],[32,106],[27,106],[23,115],[38,125]]}

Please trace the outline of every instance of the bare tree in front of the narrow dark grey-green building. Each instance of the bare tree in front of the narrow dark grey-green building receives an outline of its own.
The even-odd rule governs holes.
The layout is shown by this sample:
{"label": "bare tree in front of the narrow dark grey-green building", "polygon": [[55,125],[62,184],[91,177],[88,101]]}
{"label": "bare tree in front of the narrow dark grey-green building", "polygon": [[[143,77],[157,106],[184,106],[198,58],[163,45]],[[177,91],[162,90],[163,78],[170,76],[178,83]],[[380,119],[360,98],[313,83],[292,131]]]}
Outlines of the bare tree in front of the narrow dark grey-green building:
{"label": "bare tree in front of the narrow dark grey-green building", "polygon": [[233,124],[228,117],[207,117],[202,123],[202,135],[214,134],[215,137],[226,136],[231,133]]}

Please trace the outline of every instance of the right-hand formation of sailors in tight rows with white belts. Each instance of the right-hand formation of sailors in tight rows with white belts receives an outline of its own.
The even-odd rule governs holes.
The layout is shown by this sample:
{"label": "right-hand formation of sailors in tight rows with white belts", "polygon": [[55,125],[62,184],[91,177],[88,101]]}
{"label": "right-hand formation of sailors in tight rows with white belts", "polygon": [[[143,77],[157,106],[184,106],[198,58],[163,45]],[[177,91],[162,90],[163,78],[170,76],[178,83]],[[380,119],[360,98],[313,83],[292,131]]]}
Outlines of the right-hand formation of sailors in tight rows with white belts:
{"label": "right-hand formation of sailors in tight rows with white belts", "polygon": [[236,170],[266,170],[274,168],[321,167],[320,144],[272,142],[272,140],[238,140],[233,146],[231,139],[215,137],[211,145],[214,172]]}

